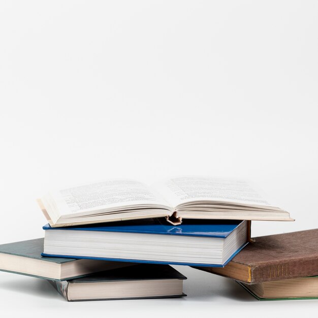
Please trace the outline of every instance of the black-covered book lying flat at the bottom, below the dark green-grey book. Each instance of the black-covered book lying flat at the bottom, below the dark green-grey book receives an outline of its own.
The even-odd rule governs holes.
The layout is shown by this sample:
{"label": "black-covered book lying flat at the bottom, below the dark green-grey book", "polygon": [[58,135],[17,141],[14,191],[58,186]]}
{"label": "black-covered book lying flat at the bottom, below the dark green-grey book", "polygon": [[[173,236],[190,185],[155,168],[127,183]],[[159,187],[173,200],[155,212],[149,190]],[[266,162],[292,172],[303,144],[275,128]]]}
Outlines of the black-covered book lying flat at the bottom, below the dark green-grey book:
{"label": "black-covered book lying flat at the bottom, below the dark green-grey book", "polygon": [[169,265],[138,264],[50,283],[66,300],[84,301],[183,297],[184,279]]}

